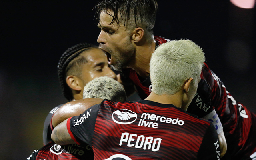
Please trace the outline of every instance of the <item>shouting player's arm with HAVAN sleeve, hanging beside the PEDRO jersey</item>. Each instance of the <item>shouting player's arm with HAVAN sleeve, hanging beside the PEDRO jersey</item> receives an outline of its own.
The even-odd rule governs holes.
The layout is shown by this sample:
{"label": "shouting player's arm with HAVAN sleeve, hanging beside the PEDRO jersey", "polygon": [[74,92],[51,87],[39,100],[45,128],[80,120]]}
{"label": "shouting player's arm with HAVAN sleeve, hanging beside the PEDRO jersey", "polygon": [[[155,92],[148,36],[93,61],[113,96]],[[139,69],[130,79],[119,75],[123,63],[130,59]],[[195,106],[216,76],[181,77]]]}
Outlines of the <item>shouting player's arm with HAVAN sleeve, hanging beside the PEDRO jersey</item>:
{"label": "shouting player's arm with HAVAN sleeve, hanging beside the PEDRO jersey", "polygon": [[[221,90],[222,83],[217,81],[216,75],[205,64],[201,73],[201,80],[198,84],[197,93],[188,107],[188,112],[196,114],[200,118],[210,120],[214,123],[219,136],[220,157],[224,156],[227,151],[226,138],[224,136],[223,127],[220,122],[221,114],[218,112],[225,104],[226,92]],[[213,107],[214,106],[214,107]],[[218,115],[215,116],[216,112]],[[215,114],[211,115],[212,112]],[[218,118],[220,116],[220,118]],[[216,118],[215,118],[216,117]]]}

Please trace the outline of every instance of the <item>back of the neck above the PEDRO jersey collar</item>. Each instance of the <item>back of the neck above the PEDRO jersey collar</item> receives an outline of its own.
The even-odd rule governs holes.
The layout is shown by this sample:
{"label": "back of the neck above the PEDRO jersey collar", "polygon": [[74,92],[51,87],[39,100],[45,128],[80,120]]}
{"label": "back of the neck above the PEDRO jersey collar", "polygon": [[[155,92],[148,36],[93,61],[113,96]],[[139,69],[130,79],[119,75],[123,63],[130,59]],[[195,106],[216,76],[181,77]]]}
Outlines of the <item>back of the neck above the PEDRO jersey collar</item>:
{"label": "back of the neck above the PEDRO jersey collar", "polygon": [[176,94],[162,94],[157,95],[154,92],[151,92],[150,95],[145,99],[150,100],[162,104],[173,104],[178,108],[182,108],[183,110],[187,110],[187,107],[183,107],[183,94],[182,91],[177,92]]}

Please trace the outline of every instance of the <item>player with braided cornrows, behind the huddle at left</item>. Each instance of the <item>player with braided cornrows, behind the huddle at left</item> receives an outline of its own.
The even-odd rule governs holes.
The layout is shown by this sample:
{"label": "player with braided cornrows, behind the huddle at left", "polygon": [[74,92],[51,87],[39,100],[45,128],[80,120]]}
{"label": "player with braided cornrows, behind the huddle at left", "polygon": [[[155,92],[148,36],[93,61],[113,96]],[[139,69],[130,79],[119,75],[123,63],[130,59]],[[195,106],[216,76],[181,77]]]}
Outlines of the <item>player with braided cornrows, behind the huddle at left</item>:
{"label": "player with braided cornrows, behind the huddle at left", "polygon": [[[95,45],[77,44],[68,48],[60,57],[58,78],[67,100],[83,99],[84,86],[94,78],[101,76],[108,76],[117,80],[116,74],[108,67],[106,54]],[[52,115],[62,105],[53,108],[46,117],[43,131],[44,145],[52,140]],[[72,148],[73,150],[80,150],[79,146],[72,146]],[[74,155],[81,157],[78,152],[75,152]],[[89,146],[84,149],[83,156],[93,158],[93,152]]]}

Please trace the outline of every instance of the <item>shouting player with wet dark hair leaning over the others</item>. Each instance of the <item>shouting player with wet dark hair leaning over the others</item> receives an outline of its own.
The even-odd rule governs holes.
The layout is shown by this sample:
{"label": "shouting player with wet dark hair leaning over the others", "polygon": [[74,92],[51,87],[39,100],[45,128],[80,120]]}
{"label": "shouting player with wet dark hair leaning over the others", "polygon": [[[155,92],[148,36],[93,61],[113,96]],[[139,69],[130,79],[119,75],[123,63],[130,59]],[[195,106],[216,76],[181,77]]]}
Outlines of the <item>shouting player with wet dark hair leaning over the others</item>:
{"label": "shouting player with wet dark hair leaning over the others", "polygon": [[[146,98],[152,91],[149,70],[152,53],[170,41],[153,35],[156,0],[101,0],[95,7],[101,28],[99,48],[106,51],[108,63],[131,80],[139,96]],[[124,86],[132,88],[125,83]],[[226,152],[223,159],[241,160],[256,152],[255,114],[234,100],[207,64],[188,112],[211,120],[218,114],[223,130],[220,123],[215,123],[218,119],[214,126],[219,133],[221,156]]]}

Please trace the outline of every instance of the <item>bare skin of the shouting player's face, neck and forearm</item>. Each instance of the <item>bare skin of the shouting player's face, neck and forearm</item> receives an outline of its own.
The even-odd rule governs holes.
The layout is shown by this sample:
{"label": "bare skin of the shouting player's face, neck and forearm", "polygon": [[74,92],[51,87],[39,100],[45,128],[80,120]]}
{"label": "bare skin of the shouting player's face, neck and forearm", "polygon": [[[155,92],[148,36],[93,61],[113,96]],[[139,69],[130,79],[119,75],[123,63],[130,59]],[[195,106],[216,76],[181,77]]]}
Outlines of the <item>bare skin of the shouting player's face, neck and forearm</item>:
{"label": "bare skin of the shouting player's face, neck and forearm", "polygon": [[[113,19],[111,15],[113,15],[112,10],[103,10],[100,13],[98,27],[101,32],[97,40],[100,44],[99,48],[106,51],[108,64],[113,65],[116,70],[125,67],[133,68],[141,77],[148,77],[150,58],[155,50],[156,42],[154,39],[151,42],[146,42],[143,36],[144,30],[140,27],[128,30],[124,26],[124,22],[119,22],[119,26],[116,23],[110,24]],[[227,150],[223,130],[218,136],[220,139],[220,157],[222,157]]]}

